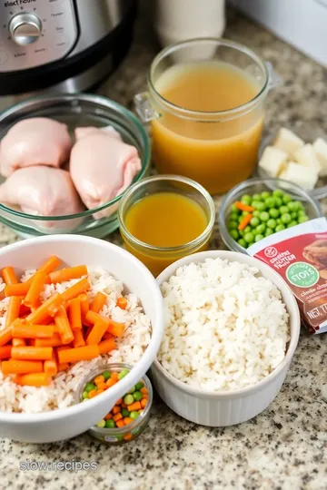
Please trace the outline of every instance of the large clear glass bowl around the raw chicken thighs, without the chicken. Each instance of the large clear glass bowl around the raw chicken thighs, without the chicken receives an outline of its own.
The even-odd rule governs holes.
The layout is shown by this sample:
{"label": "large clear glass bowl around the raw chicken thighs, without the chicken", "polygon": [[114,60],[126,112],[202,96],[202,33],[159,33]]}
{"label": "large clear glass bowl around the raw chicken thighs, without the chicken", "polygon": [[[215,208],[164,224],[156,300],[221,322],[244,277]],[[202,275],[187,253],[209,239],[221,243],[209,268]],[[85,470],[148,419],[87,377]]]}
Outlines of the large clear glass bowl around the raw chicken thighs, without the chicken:
{"label": "large clear glass bowl around the raw chicken thighs, without the chicken", "polygon": [[[49,117],[67,124],[74,137],[74,129],[81,126],[104,127],[111,125],[124,142],[134,145],[140,155],[142,170],[134,182],[144,177],[150,162],[149,139],[144,126],[119,103],[99,95],[81,93],[67,95],[39,95],[27,99],[0,113],[0,140],[16,122],[30,117]],[[0,178],[0,183],[4,178]],[[0,220],[24,238],[45,234],[74,233],[103,238],[118,228],[117,208],[122,194],[112,201],[74,215],[35,216],[0,204]],[[94,219],[98,211],[108,216]]]}

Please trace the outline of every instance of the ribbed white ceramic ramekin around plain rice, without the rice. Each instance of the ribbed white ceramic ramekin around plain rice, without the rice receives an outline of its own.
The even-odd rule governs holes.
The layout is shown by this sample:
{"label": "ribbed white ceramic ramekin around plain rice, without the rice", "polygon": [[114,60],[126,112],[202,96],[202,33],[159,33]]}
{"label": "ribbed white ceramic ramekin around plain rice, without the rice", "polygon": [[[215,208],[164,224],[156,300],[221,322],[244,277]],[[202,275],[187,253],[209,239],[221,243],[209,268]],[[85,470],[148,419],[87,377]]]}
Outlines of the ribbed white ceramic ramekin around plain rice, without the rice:
{"label": "ribbed white ceramic ramekin around plain rice, without the rice", "polygon": [[269,266],[238,252],[225,250],[210,250],[195,253],[177,260],[158,276],[157,282],[161,285],[169,279],[175,270],[191,262],[203,262],[205,259],[221,258],[234,260],[257,267],[263,276],[271,279],[282,292],[282,299],[290,314],[291,340],[286,356],[282,363],[265,377],[253,385],[230,392],[205,393],[186,385],[170,375],[156,359],[152,367],[154,387],[164,403],[179,416],[201,424],[203,426],[233,426],[245,422],[263,412],[279,393],[282,383],[290,367],[294,350],[300,334],[300,314],[291,289],[286,282]]}

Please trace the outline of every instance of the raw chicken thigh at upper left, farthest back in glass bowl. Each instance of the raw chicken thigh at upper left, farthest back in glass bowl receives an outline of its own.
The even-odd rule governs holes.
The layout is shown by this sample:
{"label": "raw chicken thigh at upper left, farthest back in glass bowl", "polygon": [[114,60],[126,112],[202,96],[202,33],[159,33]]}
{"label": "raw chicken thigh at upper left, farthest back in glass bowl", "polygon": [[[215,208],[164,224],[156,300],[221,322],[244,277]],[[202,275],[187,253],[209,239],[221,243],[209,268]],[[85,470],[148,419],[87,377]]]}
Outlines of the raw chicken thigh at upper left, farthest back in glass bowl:
{"label": "raw chicken thigh at upper left, farthest back in glass bowl", "polygon": [[60,167],[68,158],[72,141],[67,126],[45,117],[17,122],[0,143],[0,171],[5,177],[33,165]]}

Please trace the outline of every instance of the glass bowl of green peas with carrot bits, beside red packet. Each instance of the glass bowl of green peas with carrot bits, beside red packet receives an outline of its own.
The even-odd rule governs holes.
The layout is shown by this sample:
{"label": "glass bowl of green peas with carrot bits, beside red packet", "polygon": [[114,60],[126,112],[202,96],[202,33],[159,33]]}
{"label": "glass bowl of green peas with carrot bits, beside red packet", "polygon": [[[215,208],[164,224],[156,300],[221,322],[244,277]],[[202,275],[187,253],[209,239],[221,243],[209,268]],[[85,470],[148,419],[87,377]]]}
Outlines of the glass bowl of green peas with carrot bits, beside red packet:
{"label": "glass bowl of green peas with carrot bits, beside red packet", "polygon": [[218,220],[228,249],[246,253],[254,242],[320,216],[319,203],[292,182],[250,179],[226,194]]}

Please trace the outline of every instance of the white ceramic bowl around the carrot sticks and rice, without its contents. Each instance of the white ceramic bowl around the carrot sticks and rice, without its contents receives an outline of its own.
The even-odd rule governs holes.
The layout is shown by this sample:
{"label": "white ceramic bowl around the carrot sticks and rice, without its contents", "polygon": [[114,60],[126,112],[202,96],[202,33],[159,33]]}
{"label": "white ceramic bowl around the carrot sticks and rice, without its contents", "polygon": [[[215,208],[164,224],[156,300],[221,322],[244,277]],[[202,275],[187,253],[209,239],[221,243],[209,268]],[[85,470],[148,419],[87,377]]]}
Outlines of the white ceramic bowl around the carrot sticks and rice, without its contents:
{"label": "white ceramic bowl around the carrot sticks and rice, without its contents", "polygon": [[163,336],[163,301],[153,275],[133,255],[111,243],[77,235],[52,235],[20,241],[0,250],[0,268],[11,265],[18,272],[35,269],[51,255],[67,265],[102,267],[122,280],[141,299],[152,321],[152,338],[131,372],[102,395],[61,410],[41,414],[0,412],[0,436],[16,441],[49,443],[77,436],[94,426],[150,368]]}

